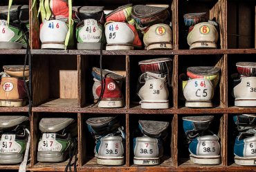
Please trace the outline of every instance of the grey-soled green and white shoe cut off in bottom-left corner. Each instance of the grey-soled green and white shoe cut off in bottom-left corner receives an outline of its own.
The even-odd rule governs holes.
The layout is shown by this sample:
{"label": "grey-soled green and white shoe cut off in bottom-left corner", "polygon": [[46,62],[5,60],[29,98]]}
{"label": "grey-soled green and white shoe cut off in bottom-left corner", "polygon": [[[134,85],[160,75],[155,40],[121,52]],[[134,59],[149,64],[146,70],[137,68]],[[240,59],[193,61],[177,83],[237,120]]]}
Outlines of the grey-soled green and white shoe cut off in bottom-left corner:
{"label": "grey-soled green and white shoe cut off in bottom-left corner", "polygon": [[27,116],[0,116],[0,164],[24,160],[29,133]]}

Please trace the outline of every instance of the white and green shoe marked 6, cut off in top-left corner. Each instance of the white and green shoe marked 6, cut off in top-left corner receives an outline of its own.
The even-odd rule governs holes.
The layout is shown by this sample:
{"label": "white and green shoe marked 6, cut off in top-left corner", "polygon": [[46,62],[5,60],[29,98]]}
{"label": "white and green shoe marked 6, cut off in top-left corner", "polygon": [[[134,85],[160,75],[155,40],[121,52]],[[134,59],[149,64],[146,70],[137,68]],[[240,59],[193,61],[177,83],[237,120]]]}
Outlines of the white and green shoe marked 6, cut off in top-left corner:
{"label": "white and green shoe marked 6, cut off in top-left corner", "polygon": [[8,6],[0,6],[0,49],[26,48],[28,21],[28,6],[11,6],[9,23]]}

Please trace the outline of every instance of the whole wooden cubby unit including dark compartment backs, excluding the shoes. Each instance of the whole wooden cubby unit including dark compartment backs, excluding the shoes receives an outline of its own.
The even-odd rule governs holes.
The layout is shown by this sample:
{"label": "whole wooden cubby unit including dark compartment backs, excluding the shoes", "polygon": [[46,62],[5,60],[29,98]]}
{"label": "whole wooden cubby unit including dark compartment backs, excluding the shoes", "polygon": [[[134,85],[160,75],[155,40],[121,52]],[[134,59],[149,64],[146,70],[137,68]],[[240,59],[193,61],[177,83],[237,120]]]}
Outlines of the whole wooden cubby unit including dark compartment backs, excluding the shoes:
{"label": "whole wooden cubby unit including dark compartment backs, excluding the shoes", "polygon": [[[13,4],[29,4],[33,0],[16,0]],[[35,7],[38,7],[38,1]],[[122,84],[125,106],[116,109],[91,107],[93,97],[91,87],[92,67],[100,67],[99,50],[40,50],[39,19],[37,8],[30,10],[30,47],[32,57],[33,113],[30,116],[30,162],[28,171],[64,171],[66,162],[40,164],[37,162],[37,144],[39,139],[38,123],[42,116],[71,116],[77,119],[78,161],[77,171],[253,171],[253,166],[234,164],[232,142],[236,130],[232,116],[241,113],[255,113],[256,107],[235,107],[231,96],[232,80],[230,74],[237,72],[238,61],[255,61],[256,54],[256,17],[255,0],[143,0],[143,1],[93,1],[74,0],[74,6],[106,6],[115,9],[127,3],[167,3],[172,12],[173,50],[103,50],[103,68],[111,69],[126,76]],[[7,6],[8,1],[1,1]],[[111,5],[110,5],[111,4]],[[183,14],[206,12],[209,19],[219,23],[219,43],[216,50],[188,50],[186,28]],[[2,65],[23,64],[26,50],[0,50]],[[136,84],[139,76],[138,61],[150,58],[172,58],[172,87],[170,87],[169,109],[141,109],[134,103]],[[179,100],[179,74],[185,73],[190,66],[212,65],[221,68],[219,86],[213,99],[214,107],[208,109],[184,107]],[[0,107],[1,114],[27,114],[26,107]],[[221,164],[203,166],[191,164],[188,149],[183,147],[182,117],[214,115],[218,136],[221,138]],[[93,158],[95,140],[89,133],[85,120],[95,116],[118,116],[125,127],[125,164],[122,166],[100,166]],[[134,128],[140,118],[167,120],[170,122],[169,138],[165,142],[164,162],[158,166],[135,166],[133,164],[132,139]],[[213,127],[213,126],[212,126]],[[185,158],[185,159],[184,159]],[[7,171],[19,169],[19,165],[3,166]]]}

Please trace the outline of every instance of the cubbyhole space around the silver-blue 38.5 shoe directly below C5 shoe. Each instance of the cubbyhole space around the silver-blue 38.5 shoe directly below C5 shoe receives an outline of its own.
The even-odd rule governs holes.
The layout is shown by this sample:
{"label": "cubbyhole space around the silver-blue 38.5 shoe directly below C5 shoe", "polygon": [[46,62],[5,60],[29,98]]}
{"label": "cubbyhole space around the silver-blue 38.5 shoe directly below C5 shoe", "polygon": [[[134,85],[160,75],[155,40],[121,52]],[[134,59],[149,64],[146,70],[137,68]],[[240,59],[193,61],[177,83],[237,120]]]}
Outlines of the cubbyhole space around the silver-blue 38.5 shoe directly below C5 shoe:
{"label": "cubbyhole space around the silver-blue 38.5 shoe directly below C5 shoe", "polygon": [[[216,165],[209,165],[209,164],[195,164],[190,160],[190,151],[189,151],[189,140],[185,134],[185,131],[183,129],[183,117],[186,116],[212,116],[211,114],[196,114],[196,115],[178,115],[178,165],[180,167],[195,167],[195,166],[221,166],[222,164],[216,164]],[[220,145],[220,154],[221,155],[221,161],[223,159],[223,148],[221,145],[223,145],[223,142],[226,142],[226,140],[223,140],[223,114],[214,114],[214,118],[212,122],[210,123],[210,126],[208,128],[209,131],[212,131],[216,136],[219,137],[219,145]],[[207,134],[210,134],[211,132],[207,132]]]}

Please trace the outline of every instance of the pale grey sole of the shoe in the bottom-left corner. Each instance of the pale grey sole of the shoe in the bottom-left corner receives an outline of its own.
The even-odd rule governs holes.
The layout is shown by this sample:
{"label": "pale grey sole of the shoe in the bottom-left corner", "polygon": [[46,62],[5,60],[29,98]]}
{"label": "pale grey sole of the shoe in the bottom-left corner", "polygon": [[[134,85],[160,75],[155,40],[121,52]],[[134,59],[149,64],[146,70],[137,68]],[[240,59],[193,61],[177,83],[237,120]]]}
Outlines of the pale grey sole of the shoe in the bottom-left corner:
{"label": "pale grey sole of the shoe in the bottom-left corner", "polygon": [[22,161],[21,153],[0,153],[0,164],[19,164]]}

